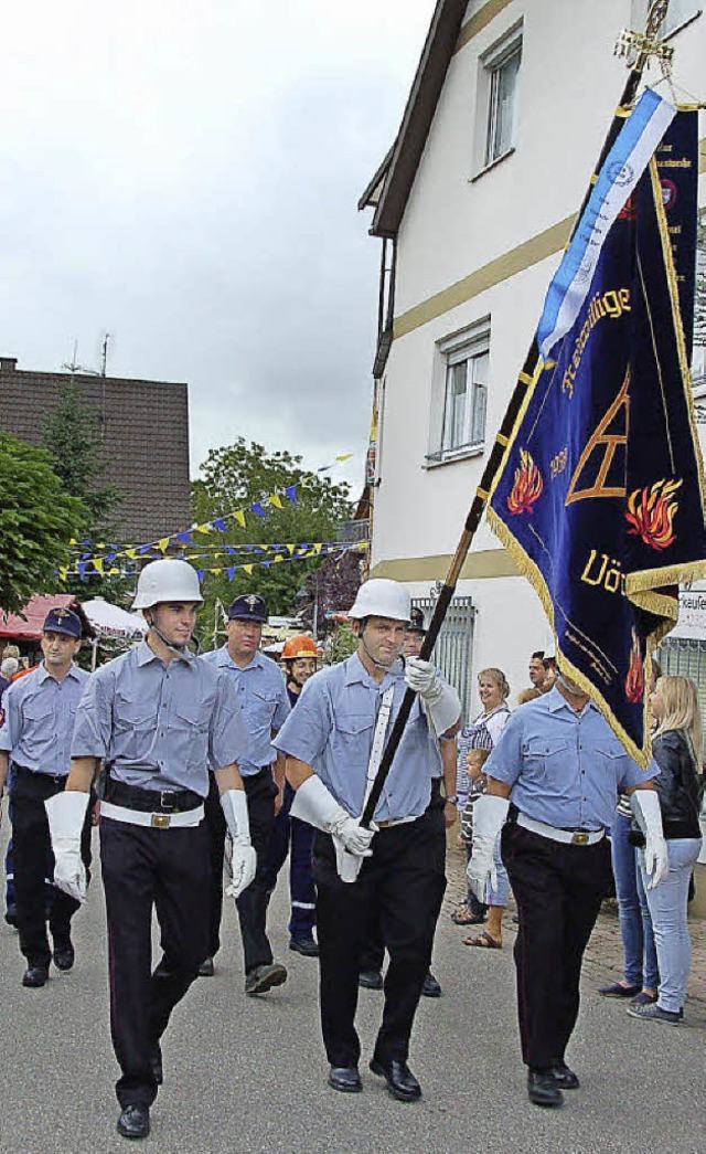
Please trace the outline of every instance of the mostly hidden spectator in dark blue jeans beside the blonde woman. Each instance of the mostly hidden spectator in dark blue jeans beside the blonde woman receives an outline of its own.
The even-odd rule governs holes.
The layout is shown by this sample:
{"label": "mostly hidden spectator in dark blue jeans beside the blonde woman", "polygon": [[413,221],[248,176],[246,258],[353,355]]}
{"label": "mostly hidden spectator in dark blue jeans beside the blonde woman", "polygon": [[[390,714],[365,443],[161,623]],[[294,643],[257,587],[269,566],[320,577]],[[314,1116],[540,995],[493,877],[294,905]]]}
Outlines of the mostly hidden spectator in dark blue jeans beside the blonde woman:
{"label": "mostly hidden spectator in dark blue jeans beside the blonde woman", "polygon": [[[651,695],[661,675],[658,661],[653,660]],[[630,998],[634,1005],[649,1005],[656,1002],[660,975],[652,919],[637,847],[631,840],[631,826],[630,799],[626,793],[621,793],[610,826],[610,857],[623,938],[624,968],[623,977],[602,986],[599,994],[606,998]]]}

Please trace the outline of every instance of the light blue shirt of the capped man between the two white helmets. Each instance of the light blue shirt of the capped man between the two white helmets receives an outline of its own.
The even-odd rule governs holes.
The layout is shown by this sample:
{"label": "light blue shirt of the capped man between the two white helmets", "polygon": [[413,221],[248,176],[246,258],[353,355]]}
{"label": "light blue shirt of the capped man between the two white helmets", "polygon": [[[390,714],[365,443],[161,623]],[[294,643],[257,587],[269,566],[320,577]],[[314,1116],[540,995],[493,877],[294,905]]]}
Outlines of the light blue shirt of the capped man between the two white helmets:
{"label": "light blue shirt of the capped man between the two white helmets", "polygon": [[256,653],[250,664],[241,669],[228,653],[227,645],[204,653],[203,660],[225,670],[242,711],[250,748],[240,772],[243,778],[260,773],[277,757],[272,747],[272,729],[279,729],[292,710],[281,670],[262,653]]}

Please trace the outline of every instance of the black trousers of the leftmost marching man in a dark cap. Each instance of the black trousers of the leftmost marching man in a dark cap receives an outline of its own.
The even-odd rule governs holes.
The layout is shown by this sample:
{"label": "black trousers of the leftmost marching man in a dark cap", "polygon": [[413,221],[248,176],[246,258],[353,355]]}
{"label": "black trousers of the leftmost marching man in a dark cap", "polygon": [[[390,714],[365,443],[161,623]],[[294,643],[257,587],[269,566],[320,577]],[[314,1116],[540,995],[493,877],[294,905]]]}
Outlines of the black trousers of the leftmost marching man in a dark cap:
{"label": "black trousers of the leftmost marching man in a dark cap", "polygon": [[[54,855],[44,802],[63,793],[65,777],[50,777],[15,766],[13,782],[13,849],[15,859],[15,905],[20,949],[30,966],[48,966],[52,951],[46,932],[45,877],[53,877]],[[81,856],[90,877],[90,805],[81,837]],[[48,926],[54,947],[72,941],[72,917],[80,908],[75,898],[54,887],[48,908]]]}

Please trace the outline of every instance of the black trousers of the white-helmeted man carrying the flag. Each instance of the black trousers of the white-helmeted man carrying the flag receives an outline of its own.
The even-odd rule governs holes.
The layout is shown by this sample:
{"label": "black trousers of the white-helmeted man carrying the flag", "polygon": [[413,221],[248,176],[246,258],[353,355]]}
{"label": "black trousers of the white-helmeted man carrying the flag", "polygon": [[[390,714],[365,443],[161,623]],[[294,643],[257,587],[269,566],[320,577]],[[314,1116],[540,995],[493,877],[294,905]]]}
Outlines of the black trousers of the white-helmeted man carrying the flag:
{"label": "black trousers of the white-helmeted man carrying the flag", "polygon": [[354,1024],[358,975],[371,909],[380,916],[390,954],[375,1057],[406,1062],[446,887],[438,811],[429,808],[415,822],[380,830],[371,848],[358,879],[346,883],[336,872],[331,838],[317,833],[314,842],[321,1024],[333,1066],[354,1066],[360,1058]]}

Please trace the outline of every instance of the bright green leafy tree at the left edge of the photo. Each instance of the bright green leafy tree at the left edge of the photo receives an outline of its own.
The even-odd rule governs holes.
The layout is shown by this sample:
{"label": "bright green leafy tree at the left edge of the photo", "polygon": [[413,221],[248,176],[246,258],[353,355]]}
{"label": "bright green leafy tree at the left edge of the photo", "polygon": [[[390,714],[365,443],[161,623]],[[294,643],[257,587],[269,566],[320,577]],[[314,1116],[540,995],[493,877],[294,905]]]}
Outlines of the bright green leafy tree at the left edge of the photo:
{"label": "bright green leafy tree at the left edge of the photo", "polygon": [[88,510],[69,496],[44,449],[0,433],[0,608],[16,613],[35,593],[55,592],[57,569]]}

